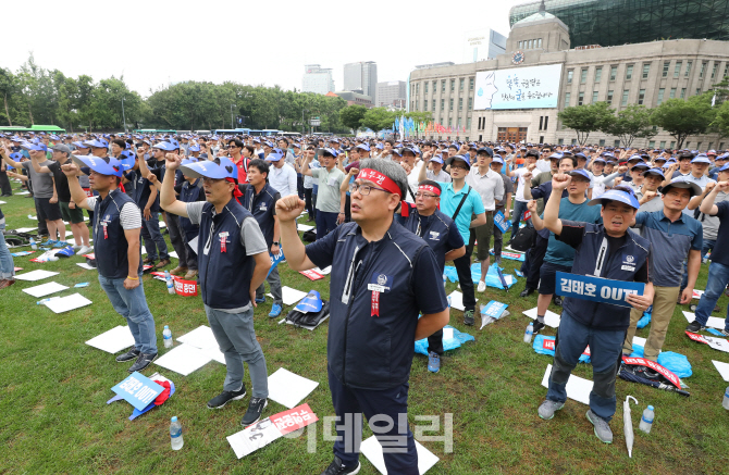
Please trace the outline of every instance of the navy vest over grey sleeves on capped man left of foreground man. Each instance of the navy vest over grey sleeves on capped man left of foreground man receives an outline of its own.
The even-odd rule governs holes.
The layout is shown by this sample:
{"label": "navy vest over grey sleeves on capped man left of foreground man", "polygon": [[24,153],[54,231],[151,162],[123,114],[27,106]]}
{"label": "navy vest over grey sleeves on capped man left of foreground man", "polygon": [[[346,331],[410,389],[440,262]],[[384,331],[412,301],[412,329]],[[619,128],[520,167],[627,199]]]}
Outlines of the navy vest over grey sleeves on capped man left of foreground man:
{"label": "navy vest over grey sleeves on capped man left of foreground man", "polygon": [[[250,303],[255,261],[240,242],[240,226],[250,212],[235,198],[220,214],[212,203],[202,208],[197,261],[202,302],[213,309],[238,309]],[[225,252],[221,242],[225,240]]]}

